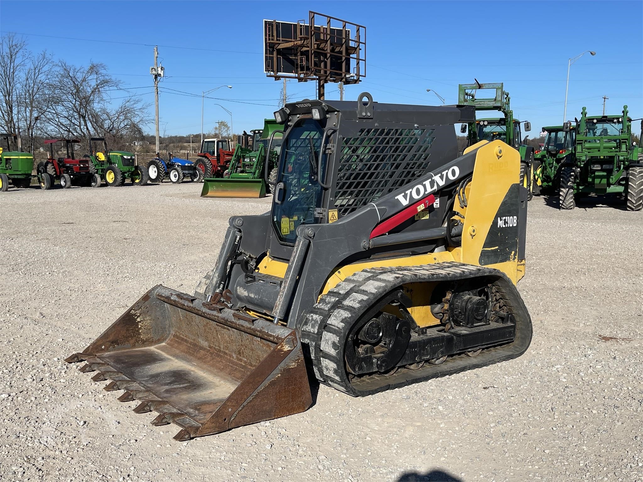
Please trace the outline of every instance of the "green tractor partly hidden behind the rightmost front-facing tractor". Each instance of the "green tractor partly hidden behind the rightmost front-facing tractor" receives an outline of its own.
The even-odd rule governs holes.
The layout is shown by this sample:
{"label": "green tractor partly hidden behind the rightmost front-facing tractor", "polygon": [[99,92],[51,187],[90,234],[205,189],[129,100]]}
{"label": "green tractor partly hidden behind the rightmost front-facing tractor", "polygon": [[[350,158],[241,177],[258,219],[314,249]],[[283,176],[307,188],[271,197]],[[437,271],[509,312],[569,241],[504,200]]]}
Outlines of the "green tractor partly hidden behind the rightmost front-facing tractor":
{"label": "green tractor partly hidden behind the rightmost front-facing tractor", "polygon": [[[562,125],[543,127],[545,145],[534,154],[534,183],[543,194],[558,192],[559,167],[574,156],[575,130]],[[538,190],[537,188],[537,190]]]}

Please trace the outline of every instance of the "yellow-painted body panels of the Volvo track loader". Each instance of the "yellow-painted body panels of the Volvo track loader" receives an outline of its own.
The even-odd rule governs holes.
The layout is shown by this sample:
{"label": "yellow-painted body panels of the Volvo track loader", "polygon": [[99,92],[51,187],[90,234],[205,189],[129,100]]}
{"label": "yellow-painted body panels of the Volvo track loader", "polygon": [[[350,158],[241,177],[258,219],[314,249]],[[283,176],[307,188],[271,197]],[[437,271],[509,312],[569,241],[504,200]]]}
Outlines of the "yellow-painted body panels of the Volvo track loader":
{"label": "yellow-painted body panels of the Volvo track loader", "polygon": [[[478,148],[478,152],[473,177],[464,192],[467,206],[460,208],[458,202],[455,202],[454,206],[454,210],[464,217],[461,247],[413,256],[392,255],[390,258],[368,259],[337,267],[326,280],[320,296],[336,287],[345,278],[368,268],[418,266],[449,261],[478,265],[480,252],[487,233],[489,233],[489,228],[495,221],[496,211],[510,186],[519,182],[520,153],[502,141],[480,141],[464,152],[470,152],[475,148]],[[288,263],[274,260],[267,255],[259,263],[257,271],[284,278],[287,267]],[[525,275],[525,260],[518,260],[517,256],[511,261],[487,265],[487,267],[504,272],[514,284]],[[435,318],[430,311],[432,284],[411,283],[404,285],[404,291],[412,300],[409,312],[420,326],[432,326],[440,323],[439,319]]]}

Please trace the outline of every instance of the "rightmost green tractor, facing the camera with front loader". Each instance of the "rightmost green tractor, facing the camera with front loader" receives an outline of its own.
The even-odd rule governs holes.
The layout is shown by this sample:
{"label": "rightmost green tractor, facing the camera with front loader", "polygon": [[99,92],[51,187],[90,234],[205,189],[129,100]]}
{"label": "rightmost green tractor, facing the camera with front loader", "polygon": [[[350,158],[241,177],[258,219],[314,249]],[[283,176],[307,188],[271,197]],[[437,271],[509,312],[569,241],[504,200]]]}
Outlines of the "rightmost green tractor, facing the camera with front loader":
{"label": "rightmost green tractor, facing the camera with front loader", "polygon": [[[572,129],[572,123],[566,123],[565,128]],[[640,211],[643,150],[632,142],[628,106],[624,105],[620,114],[610,116],[588,116],[583,107],[581,120],[576,120],[575,134],[574,156],[566,158],[560,166],[561,210],[574,209],[574,195],[616,194],[624,196],[628,211]]]}

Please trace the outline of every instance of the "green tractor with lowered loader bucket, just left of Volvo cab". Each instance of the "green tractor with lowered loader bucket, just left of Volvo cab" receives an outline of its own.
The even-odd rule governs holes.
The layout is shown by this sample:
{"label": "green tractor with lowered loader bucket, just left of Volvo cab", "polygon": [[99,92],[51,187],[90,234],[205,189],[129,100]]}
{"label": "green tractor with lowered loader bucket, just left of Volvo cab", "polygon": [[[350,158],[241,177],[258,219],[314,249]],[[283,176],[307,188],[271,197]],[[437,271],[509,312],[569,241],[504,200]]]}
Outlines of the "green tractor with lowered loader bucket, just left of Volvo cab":
{"label": "green tractor with lowered loader bucket, just left of Volvo cab", "polygon": [[[276,176],[281,128],[274,119],[265,119],[264,129],[251,130],[250,134],[244,132],[223,178],[204,179],[201,197],[265,197],[268,181]],[[266,163],[266,150],[271,137],[272,147]]]}

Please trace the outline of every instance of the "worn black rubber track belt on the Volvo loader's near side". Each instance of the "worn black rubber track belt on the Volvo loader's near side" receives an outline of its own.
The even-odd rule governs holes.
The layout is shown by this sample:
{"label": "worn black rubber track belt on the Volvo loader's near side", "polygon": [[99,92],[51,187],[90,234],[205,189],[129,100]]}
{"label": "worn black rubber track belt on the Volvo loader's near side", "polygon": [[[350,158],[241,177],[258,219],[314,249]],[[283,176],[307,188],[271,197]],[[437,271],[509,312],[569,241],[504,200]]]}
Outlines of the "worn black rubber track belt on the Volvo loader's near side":
{"label": "worn black rubber track belt on the Volvo loader's near side", "polygon": [[[454,355],[448,357],[443,364],[425,364],[420,370],[400,368],[390,376],[374,374],[349,380],[342,356],[345,340],[359,317],[385,294],[405,283],[462,280],[478,276],[491,276],[496,280],[496,293],[500,294],[503,305],[516,317],[514,341],[487,348],[477,357]],[[529,348],[532,325],[520,294],[502,272],[447,262],[358,271],[320,298],[305,315],[300,335],[302,348],[309,357],[309,362],[312,362],[315,377],[325,385],[354,397],[361,397],[519,357]]]}

